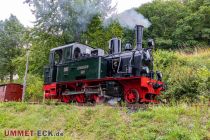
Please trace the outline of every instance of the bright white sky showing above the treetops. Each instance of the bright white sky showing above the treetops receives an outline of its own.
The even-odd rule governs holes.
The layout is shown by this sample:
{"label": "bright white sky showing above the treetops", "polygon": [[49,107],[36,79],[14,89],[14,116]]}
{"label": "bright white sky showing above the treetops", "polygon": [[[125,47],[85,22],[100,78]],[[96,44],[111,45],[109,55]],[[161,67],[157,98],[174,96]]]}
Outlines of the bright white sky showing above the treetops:
{"label": "bright white sky showing above the treetops", "polygon": [[[0,20],[5,20],[10,14],[15,15],[20,22],[25,26],[33,26],[32,21],[35,21],[35,17],[30,11],[27,4],[24,4],[25,0],[0,0]],[[117,3],[117,13],[121,13],[127,9],[138,7],[143,3],[150,2],[152,0],[113,0],[112,5]]]}

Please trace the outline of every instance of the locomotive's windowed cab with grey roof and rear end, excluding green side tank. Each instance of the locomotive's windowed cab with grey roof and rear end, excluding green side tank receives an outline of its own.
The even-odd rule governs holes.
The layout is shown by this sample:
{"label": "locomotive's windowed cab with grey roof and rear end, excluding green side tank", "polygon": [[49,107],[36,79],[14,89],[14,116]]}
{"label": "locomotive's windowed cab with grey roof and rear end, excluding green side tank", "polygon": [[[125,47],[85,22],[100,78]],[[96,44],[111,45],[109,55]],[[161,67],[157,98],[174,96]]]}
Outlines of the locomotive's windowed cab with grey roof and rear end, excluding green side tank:
{"label": "locomotive's windowed cab with grey roof and rear end, excluding green side tank", "polygon": [[79,43],[72,43],[51,49],[49,65],[44,68],[44,82],[56,82],[59,66],[90,56],[92,50],[93,48]]}

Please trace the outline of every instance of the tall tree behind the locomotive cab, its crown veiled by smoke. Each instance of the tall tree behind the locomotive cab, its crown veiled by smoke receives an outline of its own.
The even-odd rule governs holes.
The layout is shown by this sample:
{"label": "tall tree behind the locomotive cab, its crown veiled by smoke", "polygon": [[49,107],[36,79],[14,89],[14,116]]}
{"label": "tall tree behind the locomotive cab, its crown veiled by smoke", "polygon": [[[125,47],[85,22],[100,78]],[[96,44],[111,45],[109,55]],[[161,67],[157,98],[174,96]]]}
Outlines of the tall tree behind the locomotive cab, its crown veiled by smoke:
{"label": "tall tree behind the locomotive cab, its crown veiled by smoke", "polygon": [[[74,41],[85,42],[82,34],[92,18],[95,15],[104,18],[114,10],[111,0],[26,0],[26,3],[32,6],[36,17],[35,27],[28,34],[32,44],[29,73],[39,76],[43,75],[43,67],[48,64],[51,48]],[[101,46],[100,43],[91,45]],[[24,55],[15,60],[16,65],[25,63]],[[23,69],[19,68],[18,72],[23,75]]]}

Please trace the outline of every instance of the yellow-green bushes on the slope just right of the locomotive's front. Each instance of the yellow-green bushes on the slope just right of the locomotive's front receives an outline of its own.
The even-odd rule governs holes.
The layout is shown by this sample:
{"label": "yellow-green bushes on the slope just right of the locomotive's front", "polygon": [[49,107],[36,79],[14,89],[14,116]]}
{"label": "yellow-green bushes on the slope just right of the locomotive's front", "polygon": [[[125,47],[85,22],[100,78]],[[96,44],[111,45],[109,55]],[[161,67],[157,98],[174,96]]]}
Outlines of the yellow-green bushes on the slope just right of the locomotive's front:
{"label": "yellow-green bushes on the slope just right of the locomotive's front", "polygon": [[[163,73],[168,89],[162,98],[190,102],[208,99],[210,71],[193,56],[183,57],[175,52],[158,50],[154,53],[155,69]],[[202,60],[202,59],[201,59]]]}

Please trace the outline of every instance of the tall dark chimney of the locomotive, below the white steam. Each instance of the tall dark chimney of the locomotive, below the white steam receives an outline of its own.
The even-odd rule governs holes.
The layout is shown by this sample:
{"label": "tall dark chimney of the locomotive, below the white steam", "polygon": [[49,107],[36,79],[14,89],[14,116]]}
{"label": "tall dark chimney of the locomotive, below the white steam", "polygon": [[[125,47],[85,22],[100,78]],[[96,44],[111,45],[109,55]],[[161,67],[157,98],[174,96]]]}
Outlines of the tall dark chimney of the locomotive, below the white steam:
{"label": "tall dark chimney of the locomotive, below the white steam", "polygon": [[136,49],[137,50],[141,50],[142,49],[143,29],[144,29],[144,26],[142,26],[142,25],[136,25],[136,27],[135,27],[135,32],[136,32]]}

